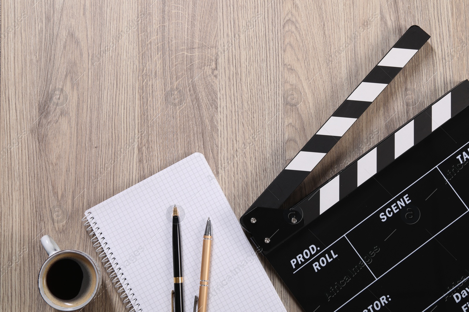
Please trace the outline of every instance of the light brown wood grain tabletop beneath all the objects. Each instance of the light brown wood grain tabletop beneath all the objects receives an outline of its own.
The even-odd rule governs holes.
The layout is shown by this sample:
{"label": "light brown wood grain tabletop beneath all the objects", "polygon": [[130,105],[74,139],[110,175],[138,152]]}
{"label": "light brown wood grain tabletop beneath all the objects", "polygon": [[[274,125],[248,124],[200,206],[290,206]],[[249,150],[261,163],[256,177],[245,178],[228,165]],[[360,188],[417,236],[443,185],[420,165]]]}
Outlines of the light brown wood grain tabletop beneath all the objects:
{"label": "light brown wood grain tabletop beneath all the objects", "polygon": [[[288,204],[469,77],[465,1],[1,0],[0,311],[53,311],[40,237],[98,258],[83,212],[193,152],[240,217],[413,24],[429,42]],[[88,311],[126,311],[108,276]]]}

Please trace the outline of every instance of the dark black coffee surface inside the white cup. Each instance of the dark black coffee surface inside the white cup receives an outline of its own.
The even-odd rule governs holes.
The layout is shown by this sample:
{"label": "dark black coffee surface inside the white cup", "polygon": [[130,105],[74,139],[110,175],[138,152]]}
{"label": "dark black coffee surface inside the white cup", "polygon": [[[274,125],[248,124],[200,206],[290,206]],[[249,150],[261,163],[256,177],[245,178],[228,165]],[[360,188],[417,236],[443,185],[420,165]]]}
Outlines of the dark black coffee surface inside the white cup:
{"label": "dark black coffee surface inside the white cup", "polygon": [[83,270],[76,261],[61,259],[49,269],[45,281],[55,297],[71,300],[82,288]]}

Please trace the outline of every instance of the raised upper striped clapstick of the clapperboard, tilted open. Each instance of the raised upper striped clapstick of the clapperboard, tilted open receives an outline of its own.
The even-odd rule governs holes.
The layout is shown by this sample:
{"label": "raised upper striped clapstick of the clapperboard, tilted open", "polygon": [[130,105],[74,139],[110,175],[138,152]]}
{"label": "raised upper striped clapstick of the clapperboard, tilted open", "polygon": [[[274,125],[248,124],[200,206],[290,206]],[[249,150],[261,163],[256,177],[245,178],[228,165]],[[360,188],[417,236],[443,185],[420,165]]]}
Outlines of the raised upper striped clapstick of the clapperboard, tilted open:
{"label": "raised upper striped clapstick of the clapperboard, tilted open", "polygon": [[410,27],[248,211],[279,208],[429,38],[420,27]]}

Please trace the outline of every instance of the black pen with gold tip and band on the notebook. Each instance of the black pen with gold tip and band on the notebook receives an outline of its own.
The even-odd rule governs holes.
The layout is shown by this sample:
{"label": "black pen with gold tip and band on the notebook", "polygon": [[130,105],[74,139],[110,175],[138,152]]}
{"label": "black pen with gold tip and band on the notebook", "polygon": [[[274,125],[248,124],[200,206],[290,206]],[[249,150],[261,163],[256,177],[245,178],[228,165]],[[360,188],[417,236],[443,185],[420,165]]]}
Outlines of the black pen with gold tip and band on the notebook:
{"label": "black pen with gold tip and band on the notebook", "polygon": [[181,237],[179,236],[179,212],[173,208],[173,272],[174,272],[174,308],[175,312],[184,312],[182,293],[182,258]]}

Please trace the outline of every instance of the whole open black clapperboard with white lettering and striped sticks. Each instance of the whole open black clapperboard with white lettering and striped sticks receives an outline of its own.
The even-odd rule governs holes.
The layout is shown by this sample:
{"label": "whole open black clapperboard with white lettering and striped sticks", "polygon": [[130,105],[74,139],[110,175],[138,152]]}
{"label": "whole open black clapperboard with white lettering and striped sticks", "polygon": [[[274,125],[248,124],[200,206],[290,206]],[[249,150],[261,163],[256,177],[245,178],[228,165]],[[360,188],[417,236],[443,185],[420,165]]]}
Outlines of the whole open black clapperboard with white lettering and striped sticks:
{"label": "whole open black clapperboard with white lettering and striped sticks", "polygon": [[430,38],[410,27],[241,218],[305,311],[469,311],[469,81],[279,209]]}

